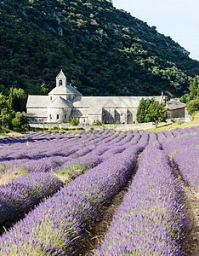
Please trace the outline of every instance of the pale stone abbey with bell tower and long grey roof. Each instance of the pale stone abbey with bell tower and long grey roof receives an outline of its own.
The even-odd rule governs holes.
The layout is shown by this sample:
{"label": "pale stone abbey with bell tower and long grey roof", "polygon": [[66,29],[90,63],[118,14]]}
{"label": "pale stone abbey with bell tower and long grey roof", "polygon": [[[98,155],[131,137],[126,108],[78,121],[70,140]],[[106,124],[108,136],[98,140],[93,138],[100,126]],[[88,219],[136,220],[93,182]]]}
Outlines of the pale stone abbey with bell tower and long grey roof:
{"label": "pale stone abbey with bell tower and long grey roof", "polygon": [[82,96],[67,84],[61,70],[56,77],[56,87],[48,96],[29,95],[27,114],[31,122],[69,123],[76,118],[79,124],[90,124],[99,119],[103,124],[134,124],[139,101],[163,96]]}

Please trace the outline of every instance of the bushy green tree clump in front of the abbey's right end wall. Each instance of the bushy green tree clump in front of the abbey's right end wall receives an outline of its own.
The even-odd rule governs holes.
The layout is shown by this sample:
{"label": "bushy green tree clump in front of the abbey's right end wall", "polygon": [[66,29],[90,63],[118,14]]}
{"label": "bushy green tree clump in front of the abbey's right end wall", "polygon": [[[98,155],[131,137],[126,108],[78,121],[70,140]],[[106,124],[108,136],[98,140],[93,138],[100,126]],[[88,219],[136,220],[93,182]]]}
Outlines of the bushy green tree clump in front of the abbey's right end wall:
{"label": "bushy green tree clump in front of the abbey's right end wall", "polygon": [[167,119],[167,109],[163,102],[157,102],[154,98],[139,102],[136,119],[139,123],[153,122],[154,125],[165,122]]}

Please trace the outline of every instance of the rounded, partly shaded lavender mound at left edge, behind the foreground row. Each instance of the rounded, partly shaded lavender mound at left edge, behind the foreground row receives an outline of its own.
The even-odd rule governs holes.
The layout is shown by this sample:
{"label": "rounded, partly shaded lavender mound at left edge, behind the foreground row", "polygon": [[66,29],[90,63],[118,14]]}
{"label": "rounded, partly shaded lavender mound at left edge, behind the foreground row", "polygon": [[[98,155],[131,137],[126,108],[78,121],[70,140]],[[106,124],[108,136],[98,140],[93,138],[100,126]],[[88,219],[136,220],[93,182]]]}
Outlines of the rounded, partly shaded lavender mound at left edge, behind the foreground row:
{"label": "rounded, partly shaded lavender mound at left edge, behind the foreground row", "polygon": [[17,221],[48,195],[64,184],[58,177],[35,172],[0,186],[0,224]]}

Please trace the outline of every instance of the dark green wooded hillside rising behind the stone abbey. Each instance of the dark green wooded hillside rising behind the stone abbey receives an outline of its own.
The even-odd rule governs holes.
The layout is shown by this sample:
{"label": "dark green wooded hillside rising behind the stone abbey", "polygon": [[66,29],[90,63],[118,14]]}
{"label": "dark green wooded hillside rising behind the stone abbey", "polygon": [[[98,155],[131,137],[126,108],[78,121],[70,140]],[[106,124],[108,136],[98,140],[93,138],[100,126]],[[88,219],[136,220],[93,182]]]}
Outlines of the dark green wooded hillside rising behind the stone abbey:
{"label": "dark green wooded hillside rising behind the stone abbey", "polygon": [[181,96],[199,61],[105,0],[0,0],[0,90],[46,94],[63,69],[84,96]]}

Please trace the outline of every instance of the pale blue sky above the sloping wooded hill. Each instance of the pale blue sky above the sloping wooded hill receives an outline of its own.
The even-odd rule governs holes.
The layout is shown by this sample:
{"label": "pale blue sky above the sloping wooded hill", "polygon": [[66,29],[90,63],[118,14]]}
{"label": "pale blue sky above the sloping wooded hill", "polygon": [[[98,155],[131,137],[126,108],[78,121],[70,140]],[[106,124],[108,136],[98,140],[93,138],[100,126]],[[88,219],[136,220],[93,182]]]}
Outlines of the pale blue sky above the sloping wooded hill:
{"label": "pale blue sky above the sloping wooded hill", "polygon": [[156,26],[199,61],[199,0],[113,0],[113,6]]}

